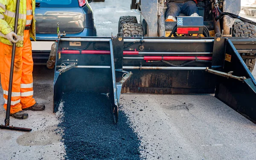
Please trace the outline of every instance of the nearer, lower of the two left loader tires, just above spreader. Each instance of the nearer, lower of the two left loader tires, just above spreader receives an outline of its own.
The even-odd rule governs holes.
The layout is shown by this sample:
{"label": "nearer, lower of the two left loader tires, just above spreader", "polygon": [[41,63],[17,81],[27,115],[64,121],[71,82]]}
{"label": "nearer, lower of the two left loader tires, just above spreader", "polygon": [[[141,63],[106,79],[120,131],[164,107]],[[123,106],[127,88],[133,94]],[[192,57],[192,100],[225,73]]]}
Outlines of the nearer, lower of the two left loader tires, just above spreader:
{"label": "nearer, lower of the two left loader tires, just above spreader", "polygon": [[122,25],[122,31],[124,37],[136,37],[143,35],[143,26],[138,23],[125,23]]}

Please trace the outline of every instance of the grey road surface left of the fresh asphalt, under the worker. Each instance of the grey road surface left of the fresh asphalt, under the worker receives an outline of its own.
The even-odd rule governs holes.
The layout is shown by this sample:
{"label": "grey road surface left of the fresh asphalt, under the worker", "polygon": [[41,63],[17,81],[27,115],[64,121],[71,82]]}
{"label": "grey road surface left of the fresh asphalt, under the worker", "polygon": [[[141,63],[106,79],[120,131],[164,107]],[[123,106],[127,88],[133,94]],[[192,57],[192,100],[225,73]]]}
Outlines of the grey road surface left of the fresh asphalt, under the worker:
{"label": "grey road surface left of the fresh asphalt, under the worker", "polygon": [[[31,132],[0,130],[0,160],[59,160],[64,156],[64,144],[60,141],[58,117],[60,113],[52,113],[53,70],[45,66],[35,66],[34,98],[44,103],[44,111],[27,111],[28,119],[10,117],[10,125],[32,128]],[[1,87],[2,90],[2,87]],[[3,93],[0,93],[0,124],[4,124]],[[56,134],[57,133],[57,134]]]}

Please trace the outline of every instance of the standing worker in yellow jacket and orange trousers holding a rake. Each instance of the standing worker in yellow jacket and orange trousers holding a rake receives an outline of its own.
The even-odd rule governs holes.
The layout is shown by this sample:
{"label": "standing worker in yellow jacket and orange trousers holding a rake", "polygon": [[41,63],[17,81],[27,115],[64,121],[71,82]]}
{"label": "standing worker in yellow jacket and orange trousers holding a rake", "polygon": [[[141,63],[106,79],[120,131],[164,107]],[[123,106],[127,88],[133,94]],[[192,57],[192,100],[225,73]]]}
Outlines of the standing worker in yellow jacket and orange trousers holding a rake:
{"label": "standing worker in yellow jacket and orange trousers holding a rake", "polygon": [[[43,111],[33,99],[33,59],[30,38],[35,40],[35,0],[20,0],[17,35],[13,32],[17,0],[0,0],[0,73],[4,105],[7,107],[12,44],[16,43],[11,116],[26,119],[27,110]],[[15,37],[15,38],[14,38]]]}

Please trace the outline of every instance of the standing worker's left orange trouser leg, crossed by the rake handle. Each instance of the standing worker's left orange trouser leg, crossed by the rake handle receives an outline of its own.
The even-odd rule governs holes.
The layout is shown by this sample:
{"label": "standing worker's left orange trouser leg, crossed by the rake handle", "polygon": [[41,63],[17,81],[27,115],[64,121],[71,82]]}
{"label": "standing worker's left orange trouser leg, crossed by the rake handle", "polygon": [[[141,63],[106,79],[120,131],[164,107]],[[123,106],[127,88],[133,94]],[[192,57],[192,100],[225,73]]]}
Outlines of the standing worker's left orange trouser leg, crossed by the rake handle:
{"label": "standing worker's left orange trouser leg, crossed by the rake handle", "polygon": [[[1,73],[1,84],[3,88],[4,105],[3,108],[7,108],[8,99],[8,88],[9,88],[9,77],[12,60],[12,46],[0,43],[0,73]],[[20,104],[20,79],[21,79],[21,68],[22,68],[22,47],[16,47],[15,50],[15,63],[12,81],[12,98],[11,98],[11,114],[15,114],[22,111]],[[25,119],[23,115],[18,117],[19,119]],[[26,117],[27,118],[27,117]]]}

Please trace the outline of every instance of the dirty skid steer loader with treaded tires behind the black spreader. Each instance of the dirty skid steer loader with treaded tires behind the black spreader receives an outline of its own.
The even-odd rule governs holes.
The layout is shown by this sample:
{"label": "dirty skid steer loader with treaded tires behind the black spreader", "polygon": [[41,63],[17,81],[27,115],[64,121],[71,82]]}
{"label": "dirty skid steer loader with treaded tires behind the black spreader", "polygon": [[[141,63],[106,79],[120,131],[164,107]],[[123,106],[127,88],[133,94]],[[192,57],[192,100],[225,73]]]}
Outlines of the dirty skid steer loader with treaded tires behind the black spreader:
{"label": "dirty skid steer loader with treaded tires behind the black spreader", "polygon": [[[165,22],[166,0],[131,0],[131,10],[140,15],[140,23],[135,16],[121,16],[119,18],[119,32],[125,36],[168,37],[176,35],[176,22]],[[218,5],[221,12],[231,12],[238,15],[241,0],[198,0],[198,13],[203,17],[206,33],[204,37],[214,37],[215,33],[222,33],[228,37],[256,38],[255,24],[235,22],[227,15],[216,20],[214,5]],[[219,12],[217,13],[219,14]],[[181,14],[180,16],[185,16]],[[235,17],[234,17],[235,18]],[[237,18],[237,17],[236,17]],[[197,22],[198,23],[198,22]],[[174,29],[174,32],[172,30]],[[209,33],[207,33],[208,31]],[[172,34],[172,35],[170,35]],[[256,63],[256,51],[239,50],[245,64],[252,72]]]}

